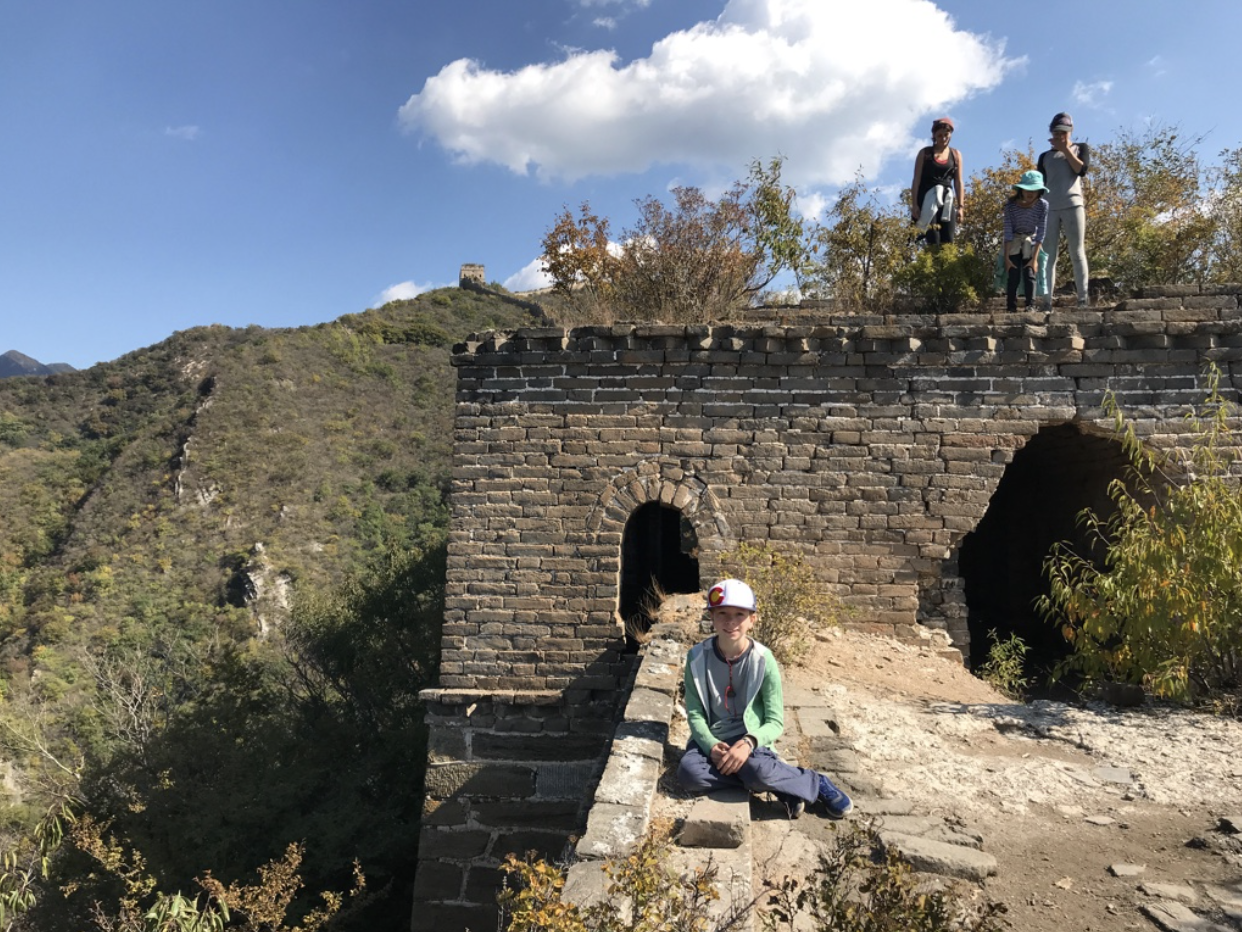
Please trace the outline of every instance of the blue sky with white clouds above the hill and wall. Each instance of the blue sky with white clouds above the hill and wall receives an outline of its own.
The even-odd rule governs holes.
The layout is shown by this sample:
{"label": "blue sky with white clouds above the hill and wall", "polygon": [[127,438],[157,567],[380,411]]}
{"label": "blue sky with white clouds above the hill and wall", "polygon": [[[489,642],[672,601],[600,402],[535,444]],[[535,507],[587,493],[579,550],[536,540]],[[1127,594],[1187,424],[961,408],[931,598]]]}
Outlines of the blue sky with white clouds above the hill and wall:
{"label": "blue sky with white clouds above the hill and wall", "polygon": [[[538,285],[589,200],[781,154],[807,214],[1149,122],[1242,145],[1237,0],[0,0],[0,352],[86,368],[200,324],[296,327]],[[981,221],[980,217],[977,221]]]}

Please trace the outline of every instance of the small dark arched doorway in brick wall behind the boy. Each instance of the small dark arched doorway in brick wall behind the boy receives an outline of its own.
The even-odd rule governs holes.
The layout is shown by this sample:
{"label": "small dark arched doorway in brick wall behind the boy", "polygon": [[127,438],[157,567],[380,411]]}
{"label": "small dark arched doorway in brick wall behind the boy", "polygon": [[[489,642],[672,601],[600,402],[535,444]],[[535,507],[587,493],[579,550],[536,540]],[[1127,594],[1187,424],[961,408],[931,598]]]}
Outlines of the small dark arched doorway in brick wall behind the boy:
{"label": "small dark arched doorway in brick wall behind the boy", "polygon": [[626,641],[632,631],[651,628],[657,592],[697,593],[698,537],[677,508],[647,502],[630,516],[621,537],[621,619]]}

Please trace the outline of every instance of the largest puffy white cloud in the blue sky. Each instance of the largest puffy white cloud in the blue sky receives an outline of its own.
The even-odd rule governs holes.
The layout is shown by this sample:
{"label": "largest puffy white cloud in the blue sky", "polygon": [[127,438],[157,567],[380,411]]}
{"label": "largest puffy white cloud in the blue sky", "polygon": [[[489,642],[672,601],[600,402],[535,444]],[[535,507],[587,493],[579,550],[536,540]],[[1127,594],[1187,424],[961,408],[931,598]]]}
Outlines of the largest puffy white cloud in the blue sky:
{"label": "largest puffy white cloud in the blue sky", "polygon": [[655,164],[723,169],[786,157],[786,180],[842,184],[1023,60],[932,0],[729,0],[628,63],[606,50],[515,72],[460,58],[401,107],[465,164],[574,180]]}

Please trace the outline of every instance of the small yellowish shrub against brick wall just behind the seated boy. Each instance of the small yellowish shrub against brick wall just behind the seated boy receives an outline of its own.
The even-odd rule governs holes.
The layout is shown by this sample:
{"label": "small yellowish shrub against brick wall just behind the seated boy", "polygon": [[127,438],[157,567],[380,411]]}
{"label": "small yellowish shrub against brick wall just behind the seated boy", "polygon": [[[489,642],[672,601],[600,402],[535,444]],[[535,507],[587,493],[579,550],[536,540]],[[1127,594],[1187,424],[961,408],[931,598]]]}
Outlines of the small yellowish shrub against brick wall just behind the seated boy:
{"label": "small yellowish shrub against brick wall just behind the seated boy", "polygon": [[755,590],[759,620],[754,637],[782,664],[806,654],[812,629],[840,621],[841,603],[796,552],[743,543],[724,558],[724,565]]}

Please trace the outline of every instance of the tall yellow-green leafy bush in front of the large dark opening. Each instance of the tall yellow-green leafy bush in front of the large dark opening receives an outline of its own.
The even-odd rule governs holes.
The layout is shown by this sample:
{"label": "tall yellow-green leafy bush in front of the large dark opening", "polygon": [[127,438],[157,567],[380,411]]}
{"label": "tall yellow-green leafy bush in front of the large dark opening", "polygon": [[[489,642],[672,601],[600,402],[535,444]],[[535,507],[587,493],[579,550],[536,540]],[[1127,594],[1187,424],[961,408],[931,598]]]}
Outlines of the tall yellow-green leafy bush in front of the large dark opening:
{"label": "tall yellow-green leafy bush in front of the large dark opening", "polygon": [[1177,457],[1143,446],[1114,399],[1107,401],[1130,457],[1109,495],[1117,511],[1081,521],[1105,544],[1103,567],[1057,546],[1045,563],[1040,611],[1073,645],[1066,669],[1144,683],[1194,700],[1242,682],[1242,495],[1232,475],[1238,437],[1211,372],[1194,442]]}

